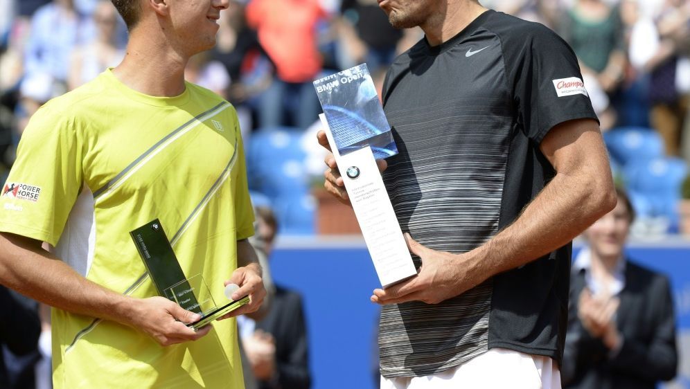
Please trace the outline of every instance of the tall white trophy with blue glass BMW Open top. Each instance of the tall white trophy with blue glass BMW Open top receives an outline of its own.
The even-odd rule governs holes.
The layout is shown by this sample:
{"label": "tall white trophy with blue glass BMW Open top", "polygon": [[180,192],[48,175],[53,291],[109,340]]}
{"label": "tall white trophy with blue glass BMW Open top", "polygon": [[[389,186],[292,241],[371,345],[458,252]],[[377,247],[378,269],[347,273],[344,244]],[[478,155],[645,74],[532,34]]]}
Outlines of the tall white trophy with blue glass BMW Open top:
{"label": "tall white trophy with blue glass BMW Open top", "polygon": [[366,64],[314,82],[330,149],[382,286],[416,275],[376,159],[398,154]]}

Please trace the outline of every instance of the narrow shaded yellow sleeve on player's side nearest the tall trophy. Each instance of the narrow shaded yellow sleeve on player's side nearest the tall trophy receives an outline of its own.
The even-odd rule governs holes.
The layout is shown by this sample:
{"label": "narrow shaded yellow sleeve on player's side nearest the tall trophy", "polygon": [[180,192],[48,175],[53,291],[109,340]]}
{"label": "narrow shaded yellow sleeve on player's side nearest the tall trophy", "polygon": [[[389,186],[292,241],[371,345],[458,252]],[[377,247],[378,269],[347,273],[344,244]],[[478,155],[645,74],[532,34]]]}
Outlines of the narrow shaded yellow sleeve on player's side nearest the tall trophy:
{"label": "narrow shaded yellow sleeve on player's side nearest the tall trophy", "polygon": [[254,207],[249,197],[249,183],[247,181],[247,163],[245,161],[245,148],[242,145],[242,134],[237,114],[235,114],[235,128],[237,136],[237,161],[235,180],[235,225],[237,227],[237,239],[246,239],[254,235]]}

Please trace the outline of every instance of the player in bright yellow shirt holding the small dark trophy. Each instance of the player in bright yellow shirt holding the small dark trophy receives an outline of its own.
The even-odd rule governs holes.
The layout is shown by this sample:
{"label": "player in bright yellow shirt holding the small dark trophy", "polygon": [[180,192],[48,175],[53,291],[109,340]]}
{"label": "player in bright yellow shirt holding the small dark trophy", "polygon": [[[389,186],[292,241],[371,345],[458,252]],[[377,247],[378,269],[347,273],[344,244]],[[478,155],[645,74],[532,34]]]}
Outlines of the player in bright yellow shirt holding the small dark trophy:
{"label": "player in bright yellow shirt holding the small dark trophy", "polygon": [[[235,109],[184,81],[229,0],[113,0],[114,69],[39,109],[0,187],[0,284],[54,307],[55,388],[242,388],[236,321],[265,290]],[[157,291],[129,231],[158,218],[184,273],[249,304],[199,316]],[[53,248],[42,250],[42,242]]]}

